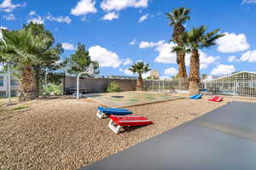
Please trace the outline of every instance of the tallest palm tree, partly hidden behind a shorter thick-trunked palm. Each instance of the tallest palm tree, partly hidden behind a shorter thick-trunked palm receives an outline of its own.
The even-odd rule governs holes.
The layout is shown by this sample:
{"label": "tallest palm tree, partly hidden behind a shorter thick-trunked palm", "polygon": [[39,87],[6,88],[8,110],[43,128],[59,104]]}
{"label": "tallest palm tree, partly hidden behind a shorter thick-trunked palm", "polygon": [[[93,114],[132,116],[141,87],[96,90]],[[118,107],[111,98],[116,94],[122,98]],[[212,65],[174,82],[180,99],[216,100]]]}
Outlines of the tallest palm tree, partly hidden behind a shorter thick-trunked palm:
{"label": "tallest palm tree, partly hidden behind a shorter thick-trunked palm", "polygon": [[[175,8],[167,15],[167,18],[171,21],[170,26],[173,27],[172,42],[176,42],[178,47],[183,46],[183,42],[179,40],[179,37],[183,35],[185,28],[183,24],[190,20],[189,17],[190,8]],[[175,51],[177,54],[178,65],[178,78],[180,88],[188,88],[187,71],[185,65],[185,53],[183,51]]]}

